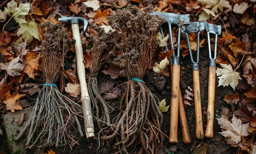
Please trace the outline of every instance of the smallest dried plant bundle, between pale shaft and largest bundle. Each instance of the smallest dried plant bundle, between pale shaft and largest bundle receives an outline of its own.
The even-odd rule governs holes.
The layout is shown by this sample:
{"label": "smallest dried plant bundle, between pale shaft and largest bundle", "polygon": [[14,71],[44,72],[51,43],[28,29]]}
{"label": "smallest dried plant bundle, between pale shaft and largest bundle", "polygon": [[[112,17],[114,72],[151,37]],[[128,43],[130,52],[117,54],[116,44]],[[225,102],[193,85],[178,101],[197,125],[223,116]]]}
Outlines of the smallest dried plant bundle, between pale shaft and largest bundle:
{"label": "smallest dried plant bundle, between pale shaft and largest bundle", "polygon": [[99,130],[101,130],[106,123],[110,124],[109,112],[113,108],[109,106],[100,95],[97,75],[101,66],[113,54],[112,49],[115,45],[114,42],[118,41],[119,36],[116,31],[105,33],[105,30],[100,27],[95,27],[95,29],[98,31],[98,36],[91,36],[93,48],[91,51],[92,58],[89,68],[91,77],[89,78],[88,90],[91,101],[93,102],[93,106],[96,110],[97,125]]}

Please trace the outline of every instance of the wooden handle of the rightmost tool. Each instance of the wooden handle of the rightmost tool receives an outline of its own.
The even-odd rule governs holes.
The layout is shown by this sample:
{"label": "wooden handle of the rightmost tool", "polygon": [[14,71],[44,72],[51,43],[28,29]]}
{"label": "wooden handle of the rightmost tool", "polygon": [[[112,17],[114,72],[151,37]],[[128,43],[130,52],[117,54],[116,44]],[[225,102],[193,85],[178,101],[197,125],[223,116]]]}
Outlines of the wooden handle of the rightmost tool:
{"label": "wooden handle of the rightmost tool", "polygon": [[208,106],[206,114],[206,130],[205,137],[213,138],[213,121],[214,121],[214,100],[215,100],[215,80],[216,80],[216,67],[209,67],[208,78]]}

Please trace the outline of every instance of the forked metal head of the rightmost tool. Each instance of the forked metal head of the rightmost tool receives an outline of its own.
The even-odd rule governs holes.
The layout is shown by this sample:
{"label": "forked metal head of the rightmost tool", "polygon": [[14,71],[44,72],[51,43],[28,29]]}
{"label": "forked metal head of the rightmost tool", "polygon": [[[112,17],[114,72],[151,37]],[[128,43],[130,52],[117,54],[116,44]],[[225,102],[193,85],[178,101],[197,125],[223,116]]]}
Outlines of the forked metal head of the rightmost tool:
{"label": "forked metal head of the rightmost tool", "polygon": [[[205,21],[205,29],[207,31],[207,42],[208,42],[208,51],[209,51],[209,66],[216,66],[215,59],[216,59],[216,54],[217,54],[217,40],[218,40],[218,35],[221,34],[221,25],[213,25],[210,23],[207,23]],[[212,57],[211,53],[211,43],[210,43],[210,33],[215,34],[215,41],[214,41],[214,55]]]}

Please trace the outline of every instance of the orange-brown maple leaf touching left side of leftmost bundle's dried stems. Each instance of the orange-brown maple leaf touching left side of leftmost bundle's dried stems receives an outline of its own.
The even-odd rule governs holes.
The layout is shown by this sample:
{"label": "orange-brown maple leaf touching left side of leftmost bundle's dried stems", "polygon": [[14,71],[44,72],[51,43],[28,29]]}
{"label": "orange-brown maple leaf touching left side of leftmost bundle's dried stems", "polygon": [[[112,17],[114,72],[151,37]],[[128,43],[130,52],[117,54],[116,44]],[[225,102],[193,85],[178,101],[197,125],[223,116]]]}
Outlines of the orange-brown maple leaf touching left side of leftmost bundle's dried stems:
{"label": "orange-brown maple leaf touching left side of leftmost bundle's dried stems", "polygon": [[24,72],[27,73],[29,75],[30,78],[34,78],[34,69],[37,70],[38,69],[38,60],[40,58],[40,53],[36,53],[36,52],[28,52],[26,54],[26,57],[24,59]]}

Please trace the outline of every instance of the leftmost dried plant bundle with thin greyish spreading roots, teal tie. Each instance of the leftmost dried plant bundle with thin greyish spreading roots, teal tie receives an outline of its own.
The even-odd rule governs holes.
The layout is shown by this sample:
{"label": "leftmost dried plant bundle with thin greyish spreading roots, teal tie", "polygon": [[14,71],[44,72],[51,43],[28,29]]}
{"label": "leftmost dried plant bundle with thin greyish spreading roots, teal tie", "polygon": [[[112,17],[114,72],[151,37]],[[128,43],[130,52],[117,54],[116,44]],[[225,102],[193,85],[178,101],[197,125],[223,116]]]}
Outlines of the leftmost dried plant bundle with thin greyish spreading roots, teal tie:
{"label": "leftmost dried plant bundle with thin greyish spreading roots, teal tie", "polygon": [[41,45],[44,87],[39,92],[28,123],[16,141],[26,133],[27,147],[68,145],[72,148],[79,131],[83,136],[77,117],[83,117],[81,106],[60,93],[56,87],[64,65],[64,56],[74,39],[61,24],[41,24],[43,40]]}

